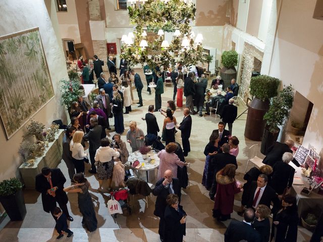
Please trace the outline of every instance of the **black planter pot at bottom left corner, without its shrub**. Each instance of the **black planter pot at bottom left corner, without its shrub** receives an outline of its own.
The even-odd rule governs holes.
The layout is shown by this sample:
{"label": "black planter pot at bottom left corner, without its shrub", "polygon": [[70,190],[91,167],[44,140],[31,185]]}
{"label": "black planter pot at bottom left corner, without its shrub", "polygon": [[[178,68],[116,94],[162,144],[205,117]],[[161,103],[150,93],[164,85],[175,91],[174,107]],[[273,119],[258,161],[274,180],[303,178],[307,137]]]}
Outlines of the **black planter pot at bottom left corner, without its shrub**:
{"label": "black planter pot at bottom left corner, without its shrub", "polygon": [[17,191],[14,195],[0,197],[0,202],[11,221],[21,221],[25,218],[27,210],[22,190]]}

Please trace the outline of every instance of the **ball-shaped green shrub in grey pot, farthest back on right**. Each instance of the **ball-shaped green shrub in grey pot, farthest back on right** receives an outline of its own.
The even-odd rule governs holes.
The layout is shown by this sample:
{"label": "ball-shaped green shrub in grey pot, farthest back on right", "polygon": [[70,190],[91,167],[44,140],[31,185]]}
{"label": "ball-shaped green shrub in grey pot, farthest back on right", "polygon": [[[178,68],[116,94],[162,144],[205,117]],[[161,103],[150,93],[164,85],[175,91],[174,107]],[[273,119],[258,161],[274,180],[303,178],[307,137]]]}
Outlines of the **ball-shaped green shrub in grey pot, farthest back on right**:
{"label": "ball-shaped green shrub in grey pot, farthest back on right", "polygon": [[232,78],[237,78],[235,66],[238,64],[238,53],[235,50],[223,51],[221,55],[221,78],[224,80],[225,87],[230,86]]}

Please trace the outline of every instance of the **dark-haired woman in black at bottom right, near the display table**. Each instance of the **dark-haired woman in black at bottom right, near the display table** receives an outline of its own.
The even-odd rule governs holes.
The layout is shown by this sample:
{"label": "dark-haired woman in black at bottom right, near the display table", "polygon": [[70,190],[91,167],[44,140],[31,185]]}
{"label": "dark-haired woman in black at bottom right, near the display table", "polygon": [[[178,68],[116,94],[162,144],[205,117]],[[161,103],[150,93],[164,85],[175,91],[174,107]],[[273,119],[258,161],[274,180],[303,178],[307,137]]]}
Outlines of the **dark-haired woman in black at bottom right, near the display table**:
{"label": "dark-haired woman in black at bottom right, near the display table", "polygon": [[282,208],[273,218],[272,236],[275,231],[275,242],[296,242],[298,220],[296,197],[284,195]]}

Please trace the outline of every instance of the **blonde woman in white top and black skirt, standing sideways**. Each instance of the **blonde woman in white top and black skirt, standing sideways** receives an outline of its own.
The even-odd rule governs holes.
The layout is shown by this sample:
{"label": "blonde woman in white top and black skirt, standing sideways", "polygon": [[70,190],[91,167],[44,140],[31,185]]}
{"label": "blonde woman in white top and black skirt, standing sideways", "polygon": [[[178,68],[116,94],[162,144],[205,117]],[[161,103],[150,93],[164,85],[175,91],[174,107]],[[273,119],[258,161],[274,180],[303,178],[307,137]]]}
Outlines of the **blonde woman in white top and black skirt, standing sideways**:
{"label": "blonde woman in white top and black skirt, standing sideways", "polygon": [[87,155],[84,152],[84,148],[81,144],[83,136],[84,133],[82,131],[76,131],[70,143],[70,151],[72,151],[72,158],[76,169],[76,173],[84,173],[84,158]]}

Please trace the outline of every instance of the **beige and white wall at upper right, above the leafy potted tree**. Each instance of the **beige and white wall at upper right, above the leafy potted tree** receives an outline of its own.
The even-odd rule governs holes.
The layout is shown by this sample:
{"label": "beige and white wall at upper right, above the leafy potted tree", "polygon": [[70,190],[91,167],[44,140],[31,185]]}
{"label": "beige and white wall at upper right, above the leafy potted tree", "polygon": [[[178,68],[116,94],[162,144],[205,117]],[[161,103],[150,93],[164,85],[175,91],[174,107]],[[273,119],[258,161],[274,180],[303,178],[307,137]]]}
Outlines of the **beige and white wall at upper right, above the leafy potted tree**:
{"label": "beige and white wall at upper right, above the leafy potted tree", "polygon": [[314,104],[303,145],[314,146],[323,156],[323,21],[312,18],[314,7],[315,1],[282,1],[273,58],[267,69],[269,75],[285,85],[292,84]]}

